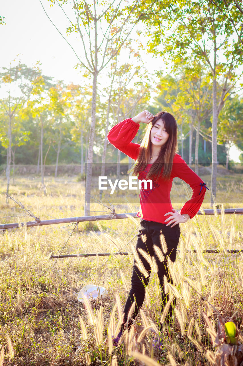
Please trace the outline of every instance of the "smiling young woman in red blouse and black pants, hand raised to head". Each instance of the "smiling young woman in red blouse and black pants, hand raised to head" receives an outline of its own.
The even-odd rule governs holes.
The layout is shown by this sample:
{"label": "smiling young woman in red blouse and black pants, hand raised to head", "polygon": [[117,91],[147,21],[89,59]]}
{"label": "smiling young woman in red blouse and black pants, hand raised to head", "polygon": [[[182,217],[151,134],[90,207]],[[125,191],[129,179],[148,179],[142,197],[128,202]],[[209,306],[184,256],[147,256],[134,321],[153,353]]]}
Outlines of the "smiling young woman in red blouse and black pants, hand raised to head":
{"label": "smiling young woman in red blouse and black pants, hand raised to head", "polygon": [[[140,123],[147,123],[146,133],[141,145],[132,143],[139,129]],[[151,179],[153,188],[146,187],[142,183],[139,192],[140,209],[137,217],[141,217],[140,228],[137,236],[136,253],[139,256],[147,275],[138,269],[134,262],[131,278],[131,290],[124,306],[123,326],[114,343],[118,344],[125,326],[131,326],[131,319],[127,318],[133,302],[135,310],[132,318],[135,318],[143,304],[145,288],[148,284],[151,268],[142,251],[151,257],[154,256],[158,277],[161,285],[161,311],[163,311],[167,299],[163,291],[164,276],[172,283],[168,268],[167,258],[175,261],[175,254],[180,238],[180,223],[185,223],[198,212],[204,199],[206,184],[194,173],[177,151],[177,124],[174,117],[167,112],[159,112],[155,116],[143,111],[133,118],[128,118],[112,127],[108,134],[108,140],[121,152],[135,160],[132,168],[134,176],[138,179]],[[179,177],[190,185],[193,190],[192,198],[182,207],[180,213],[172,208],[170,191],[172,181]],[[148,189],[150,188],[150,189]],[[207,188],[208,189],[208,188]],[[165,239],[166,246],[161,241]],[[164,255],[161,262],[154,250],[157,246]],[[165,249],[166,248],[166,249]],[[141,251],[142,249],[142,251]],[[156,248],[155,248],[156,249]],[[171,302],[166,321],[170,323],[175,299]],[[169,325],[169,324],[168,324]]]}

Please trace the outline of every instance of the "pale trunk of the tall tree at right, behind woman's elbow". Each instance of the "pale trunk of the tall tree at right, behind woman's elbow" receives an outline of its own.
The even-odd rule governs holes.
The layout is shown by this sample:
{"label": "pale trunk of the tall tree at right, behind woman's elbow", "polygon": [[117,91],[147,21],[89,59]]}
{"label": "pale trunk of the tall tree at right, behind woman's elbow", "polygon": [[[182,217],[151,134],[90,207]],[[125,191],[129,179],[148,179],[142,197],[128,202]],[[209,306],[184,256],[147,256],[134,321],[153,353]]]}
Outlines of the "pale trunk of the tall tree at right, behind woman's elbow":
{"label": "pale trunk of the tall tree at right, behind woman's elbow", "polygon": [[[212,123],[212,171],[211,171],[211,189],[216,197],[217,182],[217,83],[216,75],[213,75],[213,123]],[[213,206],[213,197],[211,197],[211,207]]]}

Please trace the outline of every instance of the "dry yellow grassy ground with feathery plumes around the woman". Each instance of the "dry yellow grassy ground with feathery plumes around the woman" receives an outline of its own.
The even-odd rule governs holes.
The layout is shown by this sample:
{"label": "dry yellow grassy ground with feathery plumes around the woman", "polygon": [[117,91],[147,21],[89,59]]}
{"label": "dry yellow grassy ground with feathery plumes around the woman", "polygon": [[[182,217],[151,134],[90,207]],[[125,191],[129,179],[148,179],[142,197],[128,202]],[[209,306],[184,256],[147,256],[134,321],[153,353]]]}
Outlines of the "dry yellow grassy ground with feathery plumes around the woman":
{"label": "dry yellow grassy ground with feathery plumes around the woman", "polygon": [[[209,183],[210,177],[204,180]],[[6,186],[0,177],[1,190]],[[39,178],[15,179],[10,187],[12,197],[41,220],[52,217],[82,216],[84,186],[75,177],[47,178],[47,195]],[[242,207],[242,175],[222,176],[217,183],[217,205]],[[94,191],[94,197],[99,192]],[[127,199],[127,201],[126,201]],[[114,194],[116,212],[135,212],[138,197]],[[186,201],[181,182],[173,183],[171,201],[180,209]],[[108,197],[102,202],[109,206]],[[209,208],[207,191],[203,208]],[[1,224],[32,220],[24,210],[0,196]],[[91,210],[102,214],[104,206],[92,203]],[[16,217],[18,216],[18,217]],[[130,286],[132,247],[139,219],[107,220],[80,223],[69,238],[74,225],[52,225],[5,231],[0,240],[0,344],[4,346],[5,365],[129,365],[132,354],[147,354],[154,365],[209,365],[215,357],[211,334],[216,330],[217,311],[231,316],[242,327],[243,255],[227,254],[225,249],[242,249],[241,215],[197,216],[181,224],[177,260],[170,272],[173,286],[167,286],[170,297],[177,297],[173,326],[164,326],[162,351],[151,347],[153,332],[159,321],[159,286],[153,272],[146,290],[143,312],[138,317],[144,327],[125,335],[119,347],[113,347],[112,335],[119,330],[121,309]],[[128,251],[130,256],[50,260],[50,254],[99,253]],[[203,254],[203,249],[218,248],[219,254]],[[193,253],[193,249],[198,251]],[[189,253],[187,252],[189,251]],[[108,289],[108,295],[92,299],[86,305],[78,302],[77,292],[85,284]],[[209,303],[213,305],[210,306]],[[117,329],[116,329],[117,328]],[[213,335],[212,335],[213,336]],[[139,357],[139,356],[138,356]],[[142,356],[140,356],[142,357]],[[211,360],[211,361],[210,361]],[[1,365],[1,356],[0,356]]]}

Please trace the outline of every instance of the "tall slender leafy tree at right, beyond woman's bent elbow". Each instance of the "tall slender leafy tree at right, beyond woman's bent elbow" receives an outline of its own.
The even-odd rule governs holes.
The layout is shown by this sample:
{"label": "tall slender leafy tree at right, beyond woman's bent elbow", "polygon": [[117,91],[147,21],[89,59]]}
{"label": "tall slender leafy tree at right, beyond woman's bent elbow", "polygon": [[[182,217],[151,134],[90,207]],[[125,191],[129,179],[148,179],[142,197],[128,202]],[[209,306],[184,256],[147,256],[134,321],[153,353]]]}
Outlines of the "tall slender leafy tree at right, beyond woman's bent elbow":
{"label": "tall slender leafy tree at right, beyond woman's bent elbow", "polygon": [[[222,6],[223,2],[221,2]],[[153,18],[151,18],[153,20]],[[150,21],[151,21],[150,19]],[[227,98],[236,93],[242,76],[243,49],[235,27],[240,28],[242,15],[237,13],[235,24],[225,18],[215,4],[209,0],[197,0],[190,6],[181,1],[181,6],[167,12],[167,19],[173,23],[173,30],[167,29],[169,36],[163,38],[166,47],[160,52],[169,60],[201,60],[209,70],[212,84],[212,193],[216,195],[217,177],[217,121],[219,112]],[[155,20],[153,20],[155,23]],[[150,30],[151,45],[160,44],[159,33]],[[164,34],[164,33],[163,33]],[[164,34],[165,35],[165,34]],[[153,47],[154,52],[154,47]],[[218,86],[220,90],[217,90]],[[219,93],[220,91],[220,93]],[[217,98],[219,96],[219,98]],[[213,204],[213,199],[211,200]]]}

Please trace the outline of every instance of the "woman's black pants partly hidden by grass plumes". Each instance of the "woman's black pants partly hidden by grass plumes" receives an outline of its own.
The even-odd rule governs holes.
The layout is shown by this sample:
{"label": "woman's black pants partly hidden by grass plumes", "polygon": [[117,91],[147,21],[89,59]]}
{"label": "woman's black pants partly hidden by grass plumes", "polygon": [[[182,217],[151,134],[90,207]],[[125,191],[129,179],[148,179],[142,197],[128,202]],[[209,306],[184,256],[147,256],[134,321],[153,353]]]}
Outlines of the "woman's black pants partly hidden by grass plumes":
{"label": "woman's black pants partly hidden by grass plumes", "polygon": [[[160,224],[156,223],[154,221],[146,221],[141,220],[140,222],[140,228],[137,236],[137,243],[136,243],[136,252],[142,261],[142,264],[144,268],[148,272],[148,277],[145,277],[138,267],[133,265],[132,270],[132,279],[131,279],[131,290],[128,295],[126,304],[124,306],[124,318],[123,318],[123,328],[124,325],[127,323],[127,314],[130,310],[130,307],[132,303],[135,301],[135,310],[134,314],[132,315],[132,318],[134,319],[136,315],[139,313],[140,307],[143,305],[143,300],[145,297],[145,289],[148,284],[148,280],[150,277],[151,268],[146,259],[139,253],[138,248],[143,249],[148,253],[151,257],[154,255],[157,266],[158,266],[158,277],[159,277],[159,283],[161,285],[161,311],[163,311],[166,302],[167,302],[167,294],[163,291],[163,280],[164,276],[167,277],[168,282],[173,283],[169,272],[167,268],[167,258],[169,257],[172,262],[175,262],[175,255],[176,255],[176,249],[178,246],[178,242],[180,239],[180,225],[177,224],[174,227],[166,226],[166,224]],[[163,234],[165,237],[165,241],[167,244],[167,252],[164,253],[161,245],[160,236]],[[144,240],[146,237],[146,240]],[[163,255],[165,257],[165,260],[163,262],[159,261],[159,258],[157,257],[156,253],[154,252],[153,246],[156,245],[161,249],[163,252]],[[175,298],[171,302],[166,320],[171,320],[172,310],[175,306]],[[131,326],[131,321],[128,321],[128,327]]]}

